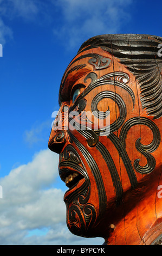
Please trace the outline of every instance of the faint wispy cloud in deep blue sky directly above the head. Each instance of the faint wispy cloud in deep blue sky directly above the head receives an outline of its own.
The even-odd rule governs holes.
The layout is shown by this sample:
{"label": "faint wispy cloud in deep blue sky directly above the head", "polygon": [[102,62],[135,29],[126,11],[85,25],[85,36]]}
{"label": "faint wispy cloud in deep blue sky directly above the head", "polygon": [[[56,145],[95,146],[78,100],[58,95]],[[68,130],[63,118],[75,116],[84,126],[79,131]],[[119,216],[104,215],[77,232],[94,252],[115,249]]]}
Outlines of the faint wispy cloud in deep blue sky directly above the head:
{"label": "faint wispy cloud in deep blue sky directly above the head", "polygon": [[[71,47],[91,36],[119,33],[123,24],[129,21],[129,7],[132,0],[57,0],[61,9],[60,26],[54,34],[66,38]],[[82,41],[83,42],[83,41]]]}

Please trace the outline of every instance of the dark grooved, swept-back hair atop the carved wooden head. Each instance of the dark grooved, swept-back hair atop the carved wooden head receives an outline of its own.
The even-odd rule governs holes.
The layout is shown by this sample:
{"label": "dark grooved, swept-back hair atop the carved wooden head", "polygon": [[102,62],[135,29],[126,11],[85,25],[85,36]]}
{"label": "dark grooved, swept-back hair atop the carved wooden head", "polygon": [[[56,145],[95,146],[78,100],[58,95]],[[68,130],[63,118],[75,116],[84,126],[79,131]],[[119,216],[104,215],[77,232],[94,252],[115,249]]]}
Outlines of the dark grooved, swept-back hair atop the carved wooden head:
{"label": "dark grooved, swept-back hair atop the carved wooden head", "polygon": [[[162,38],[153,35],[99,35],[84,42],[77,56],[84,56],[86,52],[96,51],[100,48],[113,58],[118,59],[120,64],[123,64],[135,76],[135,80],[139,84],[142,108],[146,108],[148,115],[153,115],[156,119],[162,116],[162,59],[158,56],[159,44],[161,43]],[[78,60],[77,56],[70,65]],[[85,67],[76,65],[75,68],[83,71]],[[63,79],[65,76],[63,76]],[[63,80],[61,84],[63,86]],[[62,87],[60,87],[60,101],[62,101],[61,91]],[[157,100],[154,102],[153,99]]]}

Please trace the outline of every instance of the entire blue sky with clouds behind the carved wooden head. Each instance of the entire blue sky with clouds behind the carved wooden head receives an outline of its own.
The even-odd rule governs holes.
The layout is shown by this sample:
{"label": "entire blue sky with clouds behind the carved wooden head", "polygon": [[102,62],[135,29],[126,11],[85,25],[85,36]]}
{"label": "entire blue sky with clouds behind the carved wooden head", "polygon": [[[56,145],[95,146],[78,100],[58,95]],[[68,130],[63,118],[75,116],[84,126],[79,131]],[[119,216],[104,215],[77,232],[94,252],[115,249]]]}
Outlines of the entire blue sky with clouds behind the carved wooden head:
{"label": "entire blue sky with clouds behind the carved wooden head", "polygon": [[0,244],[101,245],[66,227],[59,157],[48,150],[64,70],[98,34],[162,36],[161,1],[0,0]]}

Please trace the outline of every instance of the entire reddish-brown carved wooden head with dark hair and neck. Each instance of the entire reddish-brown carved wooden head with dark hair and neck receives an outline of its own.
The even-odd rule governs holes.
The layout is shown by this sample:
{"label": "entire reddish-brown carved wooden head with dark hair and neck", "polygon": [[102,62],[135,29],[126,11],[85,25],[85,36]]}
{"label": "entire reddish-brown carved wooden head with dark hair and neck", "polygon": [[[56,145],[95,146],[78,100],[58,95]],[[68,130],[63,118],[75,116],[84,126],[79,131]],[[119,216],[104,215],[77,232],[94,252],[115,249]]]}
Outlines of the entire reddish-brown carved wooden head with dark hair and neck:
{"label": "entire reddish-brown carved wooden head with dark hair and neck", "polygon": [[95,36],[64,72],[49,149],[60,154],[75,235],[100,236],[105,245],[160,243],[161,43],[151,35]]}

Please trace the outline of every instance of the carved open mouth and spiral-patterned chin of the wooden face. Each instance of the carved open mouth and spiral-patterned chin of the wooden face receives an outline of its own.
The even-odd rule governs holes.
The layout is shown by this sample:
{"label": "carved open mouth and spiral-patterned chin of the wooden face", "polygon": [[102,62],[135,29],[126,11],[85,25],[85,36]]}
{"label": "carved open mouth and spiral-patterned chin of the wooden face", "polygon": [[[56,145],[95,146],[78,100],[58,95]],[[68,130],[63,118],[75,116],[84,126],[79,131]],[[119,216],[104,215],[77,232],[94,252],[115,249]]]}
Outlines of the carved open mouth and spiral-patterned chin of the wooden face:
{"label": "carved open mouth and spiral-patterned chin of the wooden face", "polygon": [[90,180],[77,151],[68,145],[60,156],[59,174],[69,190],[64,194],[69,230],[86,236],[96,220],[96,209],[90,204]]}

